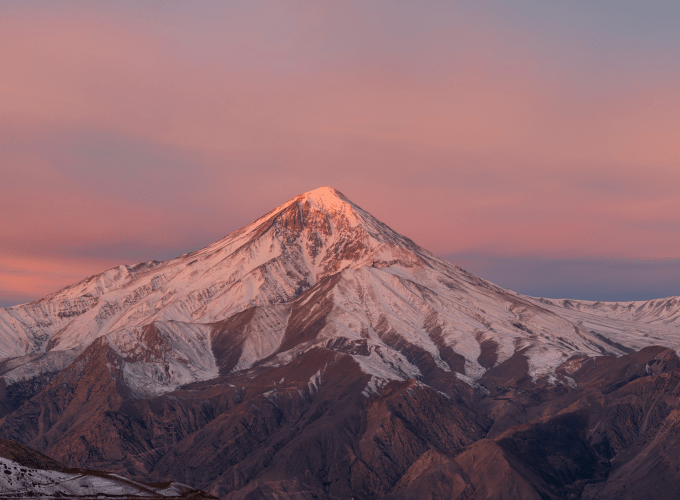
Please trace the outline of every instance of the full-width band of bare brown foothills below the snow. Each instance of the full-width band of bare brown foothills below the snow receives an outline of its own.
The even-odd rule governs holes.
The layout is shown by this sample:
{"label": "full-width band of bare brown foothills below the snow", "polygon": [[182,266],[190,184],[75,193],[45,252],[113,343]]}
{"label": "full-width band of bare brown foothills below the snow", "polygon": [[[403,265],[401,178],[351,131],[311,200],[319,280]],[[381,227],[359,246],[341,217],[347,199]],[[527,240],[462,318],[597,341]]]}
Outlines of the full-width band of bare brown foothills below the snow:
{"label": "full-width band of bare brown foothills below the snow", "polygon": [[508,385],[495,385],[502,365],[486,379],[490,397],[413,380],[366,397],[356,362],[319,348],[130,399],[116,362],[105,343],[93,346],[0,432],[69,466],[232,499],[632,499],[680,486],[680,370],[661,347],[569,360],[559,371],[575,389],[531,385],[511,361]]}

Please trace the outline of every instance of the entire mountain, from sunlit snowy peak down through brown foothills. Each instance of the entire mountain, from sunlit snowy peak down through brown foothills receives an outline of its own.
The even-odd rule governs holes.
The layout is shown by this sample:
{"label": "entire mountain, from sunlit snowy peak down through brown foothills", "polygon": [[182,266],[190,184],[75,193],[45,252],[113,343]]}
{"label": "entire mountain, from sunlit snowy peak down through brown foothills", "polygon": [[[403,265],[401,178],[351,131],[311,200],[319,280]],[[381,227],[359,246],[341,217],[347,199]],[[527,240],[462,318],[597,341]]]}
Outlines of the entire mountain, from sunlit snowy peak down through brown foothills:
{"label": "entire mountain, from sunlit snowy peak down through brown foothills", "polygon": [[[619,456],[592,441],[616,427],[591,428],[612,394],[678,368],[677,303],[523,296],[320,188],[196,252],[0,309],[0,437],[229,498],[501,498],[479,457],[526,498],[585,495]],[[671,418],[660,401],[630,410],[626,464],[640,415]],[[583,456],[532,469],[522,446],[546,426]]]}

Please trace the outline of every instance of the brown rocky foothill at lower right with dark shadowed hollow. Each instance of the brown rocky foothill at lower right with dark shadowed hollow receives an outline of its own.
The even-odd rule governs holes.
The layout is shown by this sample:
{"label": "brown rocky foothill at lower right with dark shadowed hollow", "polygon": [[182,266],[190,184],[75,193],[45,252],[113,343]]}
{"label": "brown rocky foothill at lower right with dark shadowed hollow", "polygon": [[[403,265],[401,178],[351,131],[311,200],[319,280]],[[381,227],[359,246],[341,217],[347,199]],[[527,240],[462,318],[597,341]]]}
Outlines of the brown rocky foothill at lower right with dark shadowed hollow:
{"label": "brown rocky foothill at lower right with dark shadowed hollow", "polygon": [[662,347],[570,360],[576,390],[523,385],[482,401],[490,408],[496,399],[489,413],[500,418],[487,434],[495,437],[453,456],[423,454],[389,498],[674,498],[677,363]]}

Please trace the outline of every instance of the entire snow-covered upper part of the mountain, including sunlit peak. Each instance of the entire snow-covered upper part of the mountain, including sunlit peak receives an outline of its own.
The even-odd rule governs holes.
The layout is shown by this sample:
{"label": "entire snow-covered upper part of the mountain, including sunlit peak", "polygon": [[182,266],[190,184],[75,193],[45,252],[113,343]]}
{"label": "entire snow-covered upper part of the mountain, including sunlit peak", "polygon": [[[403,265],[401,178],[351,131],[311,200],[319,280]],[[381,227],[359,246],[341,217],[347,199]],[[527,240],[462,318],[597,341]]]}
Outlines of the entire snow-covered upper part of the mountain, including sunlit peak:
{"label": "entire snow-covered upper part of the mountain, including sunlit peak", "polygon": [[677,304],[667,304],[524,297],[320,188],[196,252],[119,266],[0,309],[0,374],[16,383],[58,372],[106,336],[138,395],[285,364],[313,347],[352,355],[374,388],[420,377],[430,360],[473,383],[516,353],[537,378],[578,353],[679,348],[669,326]]}

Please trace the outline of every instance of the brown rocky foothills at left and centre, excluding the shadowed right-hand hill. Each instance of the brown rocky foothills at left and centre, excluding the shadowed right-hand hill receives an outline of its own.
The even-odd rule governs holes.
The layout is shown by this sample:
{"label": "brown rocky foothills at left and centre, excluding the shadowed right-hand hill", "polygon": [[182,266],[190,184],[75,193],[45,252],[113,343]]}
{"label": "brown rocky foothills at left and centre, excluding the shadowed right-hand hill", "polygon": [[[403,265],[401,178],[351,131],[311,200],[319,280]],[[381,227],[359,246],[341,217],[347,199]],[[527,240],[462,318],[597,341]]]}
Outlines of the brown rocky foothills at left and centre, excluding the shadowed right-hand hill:
{"label": "brown rocky foothills at left and centre, excluding the shadowed right-hand hill", "polygon": [[143,400],[116,391],[106,354],[105,345],[84,353],[81,376],[55,379],[0,423],[3,435],[70,466],[172,478],[220,496],[246,488],[243,498],[259,498],[294,479],[298,486],[285,483],[294,498],[380,498],[423,453],[455,455],[489,424],[463,399],[416,381],[366,397],[369,377],[325,349]]}

